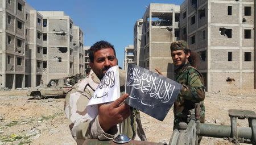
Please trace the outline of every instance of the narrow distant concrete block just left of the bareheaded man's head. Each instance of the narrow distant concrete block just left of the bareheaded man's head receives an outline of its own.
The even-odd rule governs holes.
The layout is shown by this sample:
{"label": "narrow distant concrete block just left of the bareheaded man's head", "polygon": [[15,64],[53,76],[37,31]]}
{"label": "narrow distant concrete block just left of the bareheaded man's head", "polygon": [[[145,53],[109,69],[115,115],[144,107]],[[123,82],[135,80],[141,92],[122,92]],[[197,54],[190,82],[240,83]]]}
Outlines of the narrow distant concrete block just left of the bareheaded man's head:
{"label": "narrow distant concrete block just left of the bareheaded man's head", "polygon": [[84,33],[78,26],[73,26],[74,73],[84,74]]}

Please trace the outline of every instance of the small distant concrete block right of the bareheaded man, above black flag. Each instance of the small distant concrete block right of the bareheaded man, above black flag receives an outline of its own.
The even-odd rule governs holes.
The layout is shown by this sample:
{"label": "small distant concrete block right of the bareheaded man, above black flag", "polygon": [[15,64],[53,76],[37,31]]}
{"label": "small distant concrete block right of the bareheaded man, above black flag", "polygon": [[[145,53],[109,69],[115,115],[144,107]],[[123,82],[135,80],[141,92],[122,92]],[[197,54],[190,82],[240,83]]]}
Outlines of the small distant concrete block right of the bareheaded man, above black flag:
{"label": "small distant concrete block right of the bareheaded man, above black flag", "polygon": [[129,63],[134,63],[134,48],[133,45],[125,47],[125,60],[123,62],[123,69],[127,69]]}

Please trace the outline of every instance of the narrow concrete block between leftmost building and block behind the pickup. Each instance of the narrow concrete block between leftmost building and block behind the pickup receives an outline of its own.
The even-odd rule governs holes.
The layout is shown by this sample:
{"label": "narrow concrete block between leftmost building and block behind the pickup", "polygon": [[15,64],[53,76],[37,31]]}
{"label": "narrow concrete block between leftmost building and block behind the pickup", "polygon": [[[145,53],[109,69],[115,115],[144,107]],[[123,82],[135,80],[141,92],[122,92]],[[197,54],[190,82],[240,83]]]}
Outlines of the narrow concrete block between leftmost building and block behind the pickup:
{"label": "narrow concrete block between leftmost building and block behind the pickup", "polygon": [[38,86],[43,74],[43,16],[26,4],[25,86]]}

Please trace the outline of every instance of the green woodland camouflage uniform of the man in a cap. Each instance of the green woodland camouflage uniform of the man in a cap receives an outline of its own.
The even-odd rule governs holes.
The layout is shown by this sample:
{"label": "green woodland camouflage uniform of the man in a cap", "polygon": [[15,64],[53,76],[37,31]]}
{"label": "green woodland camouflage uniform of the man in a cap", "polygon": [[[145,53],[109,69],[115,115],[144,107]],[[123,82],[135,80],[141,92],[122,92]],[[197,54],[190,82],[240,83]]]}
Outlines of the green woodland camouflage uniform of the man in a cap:
{"label": "green woodland camouflage uniform of the man in a cap", "polygon": [[187,122],[189,110],[195,108],[197,102],[200,103],[201,107],[200,122],[204,122],[205,88],[202,74],[187,63],[182,68],[176,69],[175,75],[176,81],[183,87],[174,103],[174,128],[179,122]]}

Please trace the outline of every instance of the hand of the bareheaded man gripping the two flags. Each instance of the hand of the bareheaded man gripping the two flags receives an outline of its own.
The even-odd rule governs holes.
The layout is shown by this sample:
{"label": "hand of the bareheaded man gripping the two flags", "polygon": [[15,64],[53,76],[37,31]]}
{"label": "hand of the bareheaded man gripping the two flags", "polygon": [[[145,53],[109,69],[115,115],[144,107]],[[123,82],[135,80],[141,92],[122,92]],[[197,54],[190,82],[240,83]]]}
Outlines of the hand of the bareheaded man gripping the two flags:
{"label": "hand of the bareheaded man gripping the two flags", "polygon": [[98,105],[98,122],[105,132],[130,116],[130,106],[123,103],[128,96],[128,94],[123,94],[110,104]]}

